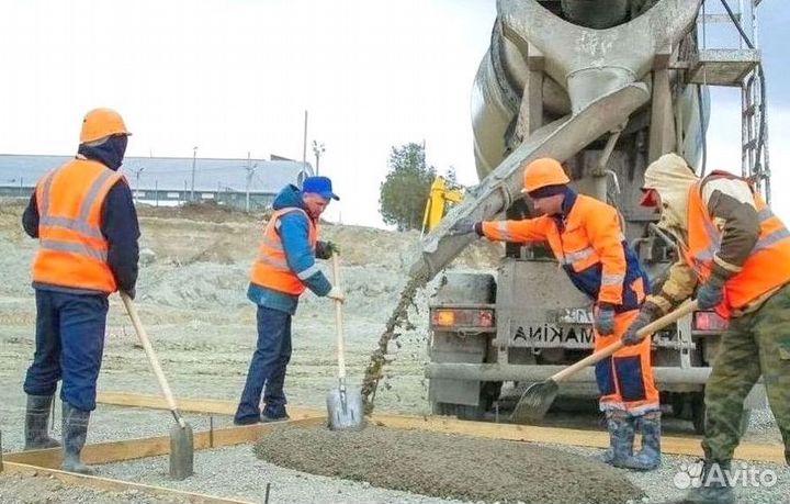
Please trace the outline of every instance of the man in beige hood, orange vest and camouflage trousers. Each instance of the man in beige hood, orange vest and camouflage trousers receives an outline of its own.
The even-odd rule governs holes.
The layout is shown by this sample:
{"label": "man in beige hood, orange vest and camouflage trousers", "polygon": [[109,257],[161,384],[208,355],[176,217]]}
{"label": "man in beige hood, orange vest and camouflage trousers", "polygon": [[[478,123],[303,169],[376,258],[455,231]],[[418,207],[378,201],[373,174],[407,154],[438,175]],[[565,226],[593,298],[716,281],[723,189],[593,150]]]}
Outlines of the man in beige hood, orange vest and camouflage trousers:
{"label": "man in beige hood, orange vest and camouflage trousers", "polygon": [[642,204],[661,211],[680,259],[651,295],[623,341],[697,290],[700,310],[729,321],[706,383],[702,484],[685,502],[735,502],[729,469],[744,401],[763,376],[790,464],[790,232],[749,183],[714,171],[699,178],[667,154],[645,171]]}

